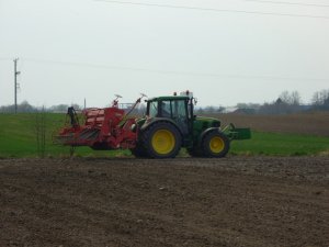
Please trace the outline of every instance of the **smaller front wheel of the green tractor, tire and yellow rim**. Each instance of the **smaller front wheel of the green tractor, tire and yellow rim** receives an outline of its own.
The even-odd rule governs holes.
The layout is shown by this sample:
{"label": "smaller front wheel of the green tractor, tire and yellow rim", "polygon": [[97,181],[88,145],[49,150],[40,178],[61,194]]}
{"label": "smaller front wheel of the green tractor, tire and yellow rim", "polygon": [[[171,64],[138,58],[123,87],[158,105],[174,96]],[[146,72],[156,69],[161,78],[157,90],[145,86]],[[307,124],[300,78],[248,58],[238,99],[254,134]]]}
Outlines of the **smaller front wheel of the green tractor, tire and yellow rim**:
{"label": "smaller front wheel of the green tractor, tire and yellow rim", "polygon": [[201,148],[204,157],[223,158],[229,150],[229,139],[219,130],[205,134]]}

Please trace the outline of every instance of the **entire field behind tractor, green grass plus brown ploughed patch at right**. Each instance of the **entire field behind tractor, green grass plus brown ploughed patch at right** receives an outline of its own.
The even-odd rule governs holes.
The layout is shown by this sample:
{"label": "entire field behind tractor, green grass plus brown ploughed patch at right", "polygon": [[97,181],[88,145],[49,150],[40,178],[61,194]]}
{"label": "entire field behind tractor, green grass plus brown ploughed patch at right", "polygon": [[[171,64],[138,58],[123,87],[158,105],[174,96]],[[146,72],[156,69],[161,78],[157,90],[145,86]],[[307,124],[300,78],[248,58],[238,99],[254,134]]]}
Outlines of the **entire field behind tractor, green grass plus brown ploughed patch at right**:
{"label": "entire field behind tractor, green grass plus brown ploughed patch at right", "polygon": [[[38,115],[41,116],[41,115]],[[252,138],[232,142],[230,155],[329,155],[329,114],[298,114],[284,116],[216,115],[224,123],[250,126]],[[0,157],[36,157],[37,114],[0,114]],[[69,147],[54,145],[52,136],[65,123],[65,114],[47,113],[47,157],[67,157]],[[76,156],[113,157],[131,156],[128,150],[94,151],[88,147],[76,149]],[[181,156],[186,156],[181,151]]]}

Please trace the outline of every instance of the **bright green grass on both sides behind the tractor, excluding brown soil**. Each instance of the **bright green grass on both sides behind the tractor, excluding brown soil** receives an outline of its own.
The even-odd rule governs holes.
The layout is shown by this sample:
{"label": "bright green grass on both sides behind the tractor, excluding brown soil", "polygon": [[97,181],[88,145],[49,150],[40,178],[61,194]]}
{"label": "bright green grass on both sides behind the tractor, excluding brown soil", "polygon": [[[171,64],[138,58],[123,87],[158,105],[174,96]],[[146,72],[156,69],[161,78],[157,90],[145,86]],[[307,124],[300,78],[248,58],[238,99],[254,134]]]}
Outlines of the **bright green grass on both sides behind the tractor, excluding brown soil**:
{"label": "bright green grass on both sides behind the tractor, excluding brown soil", "polygon": [[[45,156],[67,157],[69,147],[54,145],[52,136],[65,123],[65,114],[46,113],[39,114],[0,114],[0,157],[37,157],[36,127],[37,117],[45,119]],[[238,116],[236,116],[238,119]],[[258,116],[258,121],[261,119]],[[264,116],[264,122],[266,121]],[[303,123],[303,121],[299,121]],[[295,122],[294,124],[296,124]],[[329,125],[329,124],[328,124]],[[327,126],[328,126],[327,125]],[[248,125],[246,125],[248,126]],[[295,128],[297,128],[296,126]],[[295,130],[294,128],[294,130]],[[318,130],[319,131],[319,130]],[[327,131],[327,130],[326,130]],[[261,128],[252,130],[252,138],[249,141],[232,142],[231,155],[329,155],[329,138],[318,134],[288,134],[283,132],[264,132]],[[94,151],[88,147],[76,149],[77,156],[113,157],[129,156],[128,150]],[[185,156],[185,151],[181,151]]]}

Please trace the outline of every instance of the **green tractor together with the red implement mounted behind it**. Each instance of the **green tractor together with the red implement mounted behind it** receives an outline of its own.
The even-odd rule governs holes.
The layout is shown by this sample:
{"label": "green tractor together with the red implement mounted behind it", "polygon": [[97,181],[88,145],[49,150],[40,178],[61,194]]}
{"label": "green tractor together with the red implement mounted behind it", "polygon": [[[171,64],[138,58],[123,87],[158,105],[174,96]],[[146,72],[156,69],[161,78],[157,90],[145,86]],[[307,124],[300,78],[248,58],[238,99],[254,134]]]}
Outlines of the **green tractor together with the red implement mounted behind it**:
{"label": "green tractor together with the red implement mounted behind it", "polygon": [[128,148],[139,158],[174,158],[182,147],[192,157],[222,158],[231,141],[251,137],[250,128],[234,124],[222,127],[217,119],[194,115],[196,99],[189,91],[147,99],[146,114],[129,117],[144,97],[127,113],[118,108],[118,97],[110,108],[87,109],[82,111],[83,125],[76,110],[69,108],[70,121],[56,136],[57,142],[97,150]]}

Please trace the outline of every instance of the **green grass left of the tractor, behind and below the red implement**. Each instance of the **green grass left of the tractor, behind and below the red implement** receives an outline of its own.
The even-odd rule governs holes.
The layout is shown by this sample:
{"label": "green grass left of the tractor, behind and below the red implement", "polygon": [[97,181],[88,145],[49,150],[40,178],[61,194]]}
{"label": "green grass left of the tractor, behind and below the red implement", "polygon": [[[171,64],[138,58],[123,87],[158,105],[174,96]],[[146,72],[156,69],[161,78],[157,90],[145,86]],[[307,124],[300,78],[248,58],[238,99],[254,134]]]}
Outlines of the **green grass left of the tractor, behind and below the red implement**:
{"label": "green grass left of the tractor, behind and below the red implement", "polygon": [[[37,157],[36,126],[39,114],[0,114],[0,157]],[[46,113],[45,117],[45,156],[67,157],[70,155],[70,147],[53,144],[53,135],[64,126],[65,114]],[[125,150],[117,151],[94,151],[89,147],[76,148],[77,156],[115,156],[129,155]]]}

